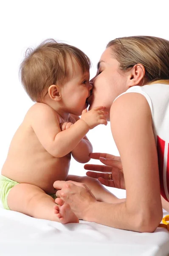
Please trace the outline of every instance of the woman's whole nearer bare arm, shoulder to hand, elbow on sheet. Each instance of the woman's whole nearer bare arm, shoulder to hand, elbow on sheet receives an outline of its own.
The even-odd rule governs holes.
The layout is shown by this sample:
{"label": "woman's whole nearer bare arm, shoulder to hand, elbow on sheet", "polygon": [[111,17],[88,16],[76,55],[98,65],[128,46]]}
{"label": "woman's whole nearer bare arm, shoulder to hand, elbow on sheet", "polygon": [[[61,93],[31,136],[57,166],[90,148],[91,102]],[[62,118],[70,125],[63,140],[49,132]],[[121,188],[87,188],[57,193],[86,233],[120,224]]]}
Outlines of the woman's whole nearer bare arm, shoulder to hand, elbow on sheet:
{"label": "woman's whole nearer bare arm, shoulder to hand, elbow on sheet", "polygon": [[97,202],[84,185],[69,182],[56,181],[55,188],[61,189],[56,194],[86,221],[153,232],[161,221],[162,206],[151,111],[144,96],[128,93],[119,97],[112,105],[110,121],[124,170],[126,202]]}

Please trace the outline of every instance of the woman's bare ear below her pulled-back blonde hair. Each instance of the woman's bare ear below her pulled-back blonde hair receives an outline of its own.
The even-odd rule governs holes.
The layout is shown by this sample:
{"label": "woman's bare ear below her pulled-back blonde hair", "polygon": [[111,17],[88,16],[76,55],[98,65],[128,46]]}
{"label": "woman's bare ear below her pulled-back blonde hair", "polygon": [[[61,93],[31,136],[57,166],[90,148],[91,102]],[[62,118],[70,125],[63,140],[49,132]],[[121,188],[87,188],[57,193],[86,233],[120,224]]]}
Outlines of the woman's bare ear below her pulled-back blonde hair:
{"label": "woman's bare ear below her pulled-back blonde hair", "polygon": [[135,85],[142,85],[143,78],[145,76],[145,68],[142,64],[136,64],[132,69],[130,70],[130,81],[129,81],[129,87],[135,86]]}

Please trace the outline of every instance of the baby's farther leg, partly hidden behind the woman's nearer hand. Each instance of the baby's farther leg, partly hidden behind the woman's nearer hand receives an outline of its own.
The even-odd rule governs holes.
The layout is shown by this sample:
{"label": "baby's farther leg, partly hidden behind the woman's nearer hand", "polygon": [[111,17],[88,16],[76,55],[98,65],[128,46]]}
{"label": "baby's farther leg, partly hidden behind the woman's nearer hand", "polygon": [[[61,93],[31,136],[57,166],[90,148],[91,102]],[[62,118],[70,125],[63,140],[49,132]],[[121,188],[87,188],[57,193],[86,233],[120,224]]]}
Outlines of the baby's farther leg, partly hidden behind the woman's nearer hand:
{"label": "baby's farther leg, partly hidden behind the woman's nearer hand", "polygon": [[122,203],[122,201],[125,201],[124,199],[117,198],[109,190],[107,190],[99,182],[99,180],[96,180],[94,178],[87,176],[68,175],[67,180],[85,183],[85,185],[90,189],[97,201],[113,204]]}

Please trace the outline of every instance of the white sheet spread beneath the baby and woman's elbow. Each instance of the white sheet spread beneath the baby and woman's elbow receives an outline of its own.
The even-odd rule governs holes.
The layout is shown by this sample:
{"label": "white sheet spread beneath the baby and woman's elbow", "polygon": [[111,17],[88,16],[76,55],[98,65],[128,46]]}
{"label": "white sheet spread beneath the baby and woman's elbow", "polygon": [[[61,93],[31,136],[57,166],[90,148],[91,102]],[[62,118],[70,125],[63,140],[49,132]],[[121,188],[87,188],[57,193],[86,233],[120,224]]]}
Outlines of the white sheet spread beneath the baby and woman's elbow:
{"label": "white sheet spread beneath the baby and woman's elbow", "polygon": [[166,256],[168,253],[169,232],[163,228],[154,233],[136,233],[86,221],[62,225],[0,206],[0,256]]}

